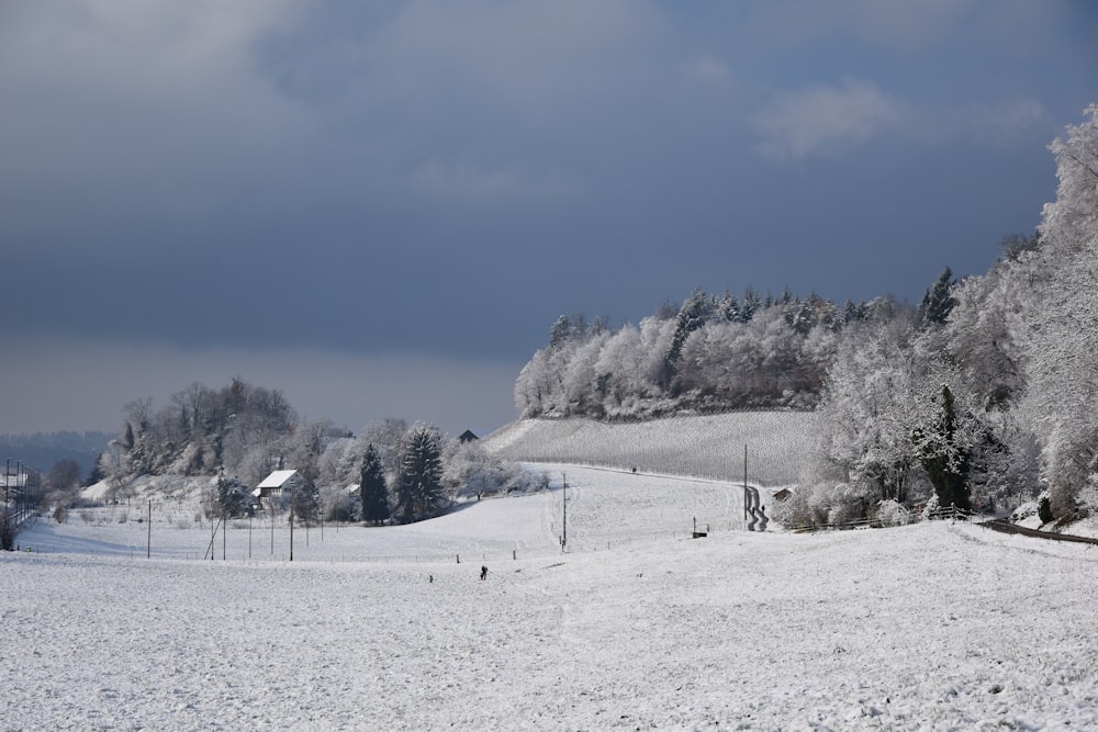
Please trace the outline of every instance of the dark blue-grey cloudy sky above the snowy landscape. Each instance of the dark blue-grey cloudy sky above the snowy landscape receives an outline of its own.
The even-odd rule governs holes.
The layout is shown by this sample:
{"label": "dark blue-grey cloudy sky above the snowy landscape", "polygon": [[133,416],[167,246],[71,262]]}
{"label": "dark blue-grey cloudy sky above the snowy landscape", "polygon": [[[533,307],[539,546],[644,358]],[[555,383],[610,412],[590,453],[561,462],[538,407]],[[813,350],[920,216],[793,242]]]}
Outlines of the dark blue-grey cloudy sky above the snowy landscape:
{"label": "dark blue-grey cloudy sky above the snowy landscape", "polygon": [[0,432],[199,381],[488,432],[560,314],[917,301],[1055,195],[1047,0],[3,0]]}

